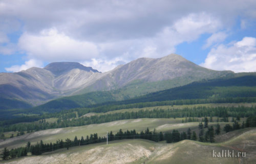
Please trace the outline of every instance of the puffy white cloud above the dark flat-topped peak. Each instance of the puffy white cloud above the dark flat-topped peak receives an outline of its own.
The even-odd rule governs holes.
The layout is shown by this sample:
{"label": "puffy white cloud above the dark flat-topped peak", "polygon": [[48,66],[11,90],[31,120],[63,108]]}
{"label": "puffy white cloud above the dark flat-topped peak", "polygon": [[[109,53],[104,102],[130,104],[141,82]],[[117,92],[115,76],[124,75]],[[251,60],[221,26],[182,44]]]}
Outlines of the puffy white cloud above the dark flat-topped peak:
{"label": "puffy white cloud above the dark flat-topped peak", "polygon": [[47,62],[81,61],[98,56],[94,43],[75,40],[54,28],[42,30],[38,35],[24,33],[18,45],[30,58]]}

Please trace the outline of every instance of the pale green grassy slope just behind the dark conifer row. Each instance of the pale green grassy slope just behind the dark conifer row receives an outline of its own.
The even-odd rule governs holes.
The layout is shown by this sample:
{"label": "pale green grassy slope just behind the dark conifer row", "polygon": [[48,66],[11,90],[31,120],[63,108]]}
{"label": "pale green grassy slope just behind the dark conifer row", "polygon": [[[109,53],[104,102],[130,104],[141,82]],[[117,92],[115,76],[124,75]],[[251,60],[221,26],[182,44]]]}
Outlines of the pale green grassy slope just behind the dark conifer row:
{"label": "pale green grassy slope just behind the dark conifer row", "polygon": [[[28,133],[22,136],[17,136],[13,138],[8,138],[0,142],[0,150],[8,147],[8,149],[16,148],[20,146],[25,146],[27,142],[31,144],[36,144],[43,140],[44,143],[54,143],[57,139],[74,139],[75,136],[81,138],[81,136],[86,137],[87,135],[98,133],[98,136],[106,136],[106,131],[113,131],[116,133],[119,129],[123,131],[135,129],[137,132],[144,131],[147,127],[150,130],[156,128],[157,131],[171,131],[173,129],[178,129],[181,131],[187,131],[188,128],[191,130],[198,130],[198,122],[181,123],[184,118],[176,119],[130,119],[130,120],[120,120],[109,123],[102,124],[91,124],[80,127],[67,127],[67,128],[57,128],[41,130],[37,132]],[[216,125],[217,123],[209,123],[209,125]],[[219,123],[222,127],[227,124],[224,122]],[[231,123],[230,123],[231,124]],[[11,133],[11,132],[8,132]]]}

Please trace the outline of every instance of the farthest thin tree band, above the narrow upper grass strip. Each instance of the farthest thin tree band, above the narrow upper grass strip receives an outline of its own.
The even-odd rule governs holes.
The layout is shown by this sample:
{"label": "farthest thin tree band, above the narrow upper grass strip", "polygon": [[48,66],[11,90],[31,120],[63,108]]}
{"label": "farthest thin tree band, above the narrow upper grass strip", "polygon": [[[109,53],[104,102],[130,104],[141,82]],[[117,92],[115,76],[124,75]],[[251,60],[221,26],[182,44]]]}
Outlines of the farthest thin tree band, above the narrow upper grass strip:
{"label": "farthest thin tree band, above the narrow upper grass strip", "polygon": [[[130,109],[130,108],[144,108],[144,107],[154,107],[154,106],[166,106],[166,105],[189,105],[189,104],[206,104],[206,103],[251,103],[256,102],[255,97],[246,97],[246,98],[209,98],[209,99],[184,99],[184,100],[168,100],[168,101],[154,101],[154,102],[130,102],[130,101],[120,101],[120,102],[106,102],[102,104],[95,104],[88,107],[81,108],[73,108],[68,110],[62,110],[51,113],[38,113],[39,115],[33,116],[21,116],[14,119],[8,119],[0,121],[0,126],[7,126],[11,124],[17,124],[22,122],[34,122],[42,119],[48,118],[60,118],[67,117],[67,119],[71,119],[75,117],[74,112],[77,112],[78,116],[82,116],[89,112],[108,112],[119,109]],[[32,108],[33,109],[33,108]],[[24,109],[23,113],[31,114],[36,113],[32,109]]]}

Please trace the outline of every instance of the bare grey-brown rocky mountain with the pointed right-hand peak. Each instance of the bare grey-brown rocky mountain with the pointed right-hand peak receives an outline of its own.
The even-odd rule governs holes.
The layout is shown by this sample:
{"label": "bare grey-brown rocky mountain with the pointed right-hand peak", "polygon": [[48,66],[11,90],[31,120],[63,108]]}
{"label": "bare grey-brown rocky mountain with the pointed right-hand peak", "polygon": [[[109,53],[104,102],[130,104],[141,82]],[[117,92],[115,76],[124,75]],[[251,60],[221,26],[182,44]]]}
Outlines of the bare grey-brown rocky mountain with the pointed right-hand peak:
{"label": "bare grey-brown rocky mountain with the pointed right-hand peak", "polygon": [[[179,86],[197,80],[213,79],[232,74],[231,71],[207,69],[186,60],[180,55],[170,54],[157,59],[139,58],[125,65],[120,65],[112,71],[102,74],[90,86],[90,89],[109,90],[131,85],[133,82],[141,84],[175,79],[178,79],[180,84],[176,84],[176,86]],[[88,87],[84,86],[84,88]]]}

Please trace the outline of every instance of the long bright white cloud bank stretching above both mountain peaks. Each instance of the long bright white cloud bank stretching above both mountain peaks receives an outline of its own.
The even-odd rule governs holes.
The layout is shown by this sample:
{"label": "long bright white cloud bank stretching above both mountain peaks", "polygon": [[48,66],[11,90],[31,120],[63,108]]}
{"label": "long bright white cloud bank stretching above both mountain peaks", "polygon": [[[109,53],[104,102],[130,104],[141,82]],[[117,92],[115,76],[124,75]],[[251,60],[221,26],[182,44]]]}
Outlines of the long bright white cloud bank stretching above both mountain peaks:
{"label": "long bright white cloud bank stretching above both mountain peaks", "polygon": [[[193,28],[187,28],[189,26]],[[105,72],[139,57],[159,58],[175,53],[176,45],[220,28],[221,23],[216,17],[194,13],[178,19],[152,37],[89,42],[76,40],[51,28],[37,35],[24,33],[18,45],[29,58],[47,62],[78,61]]]}

